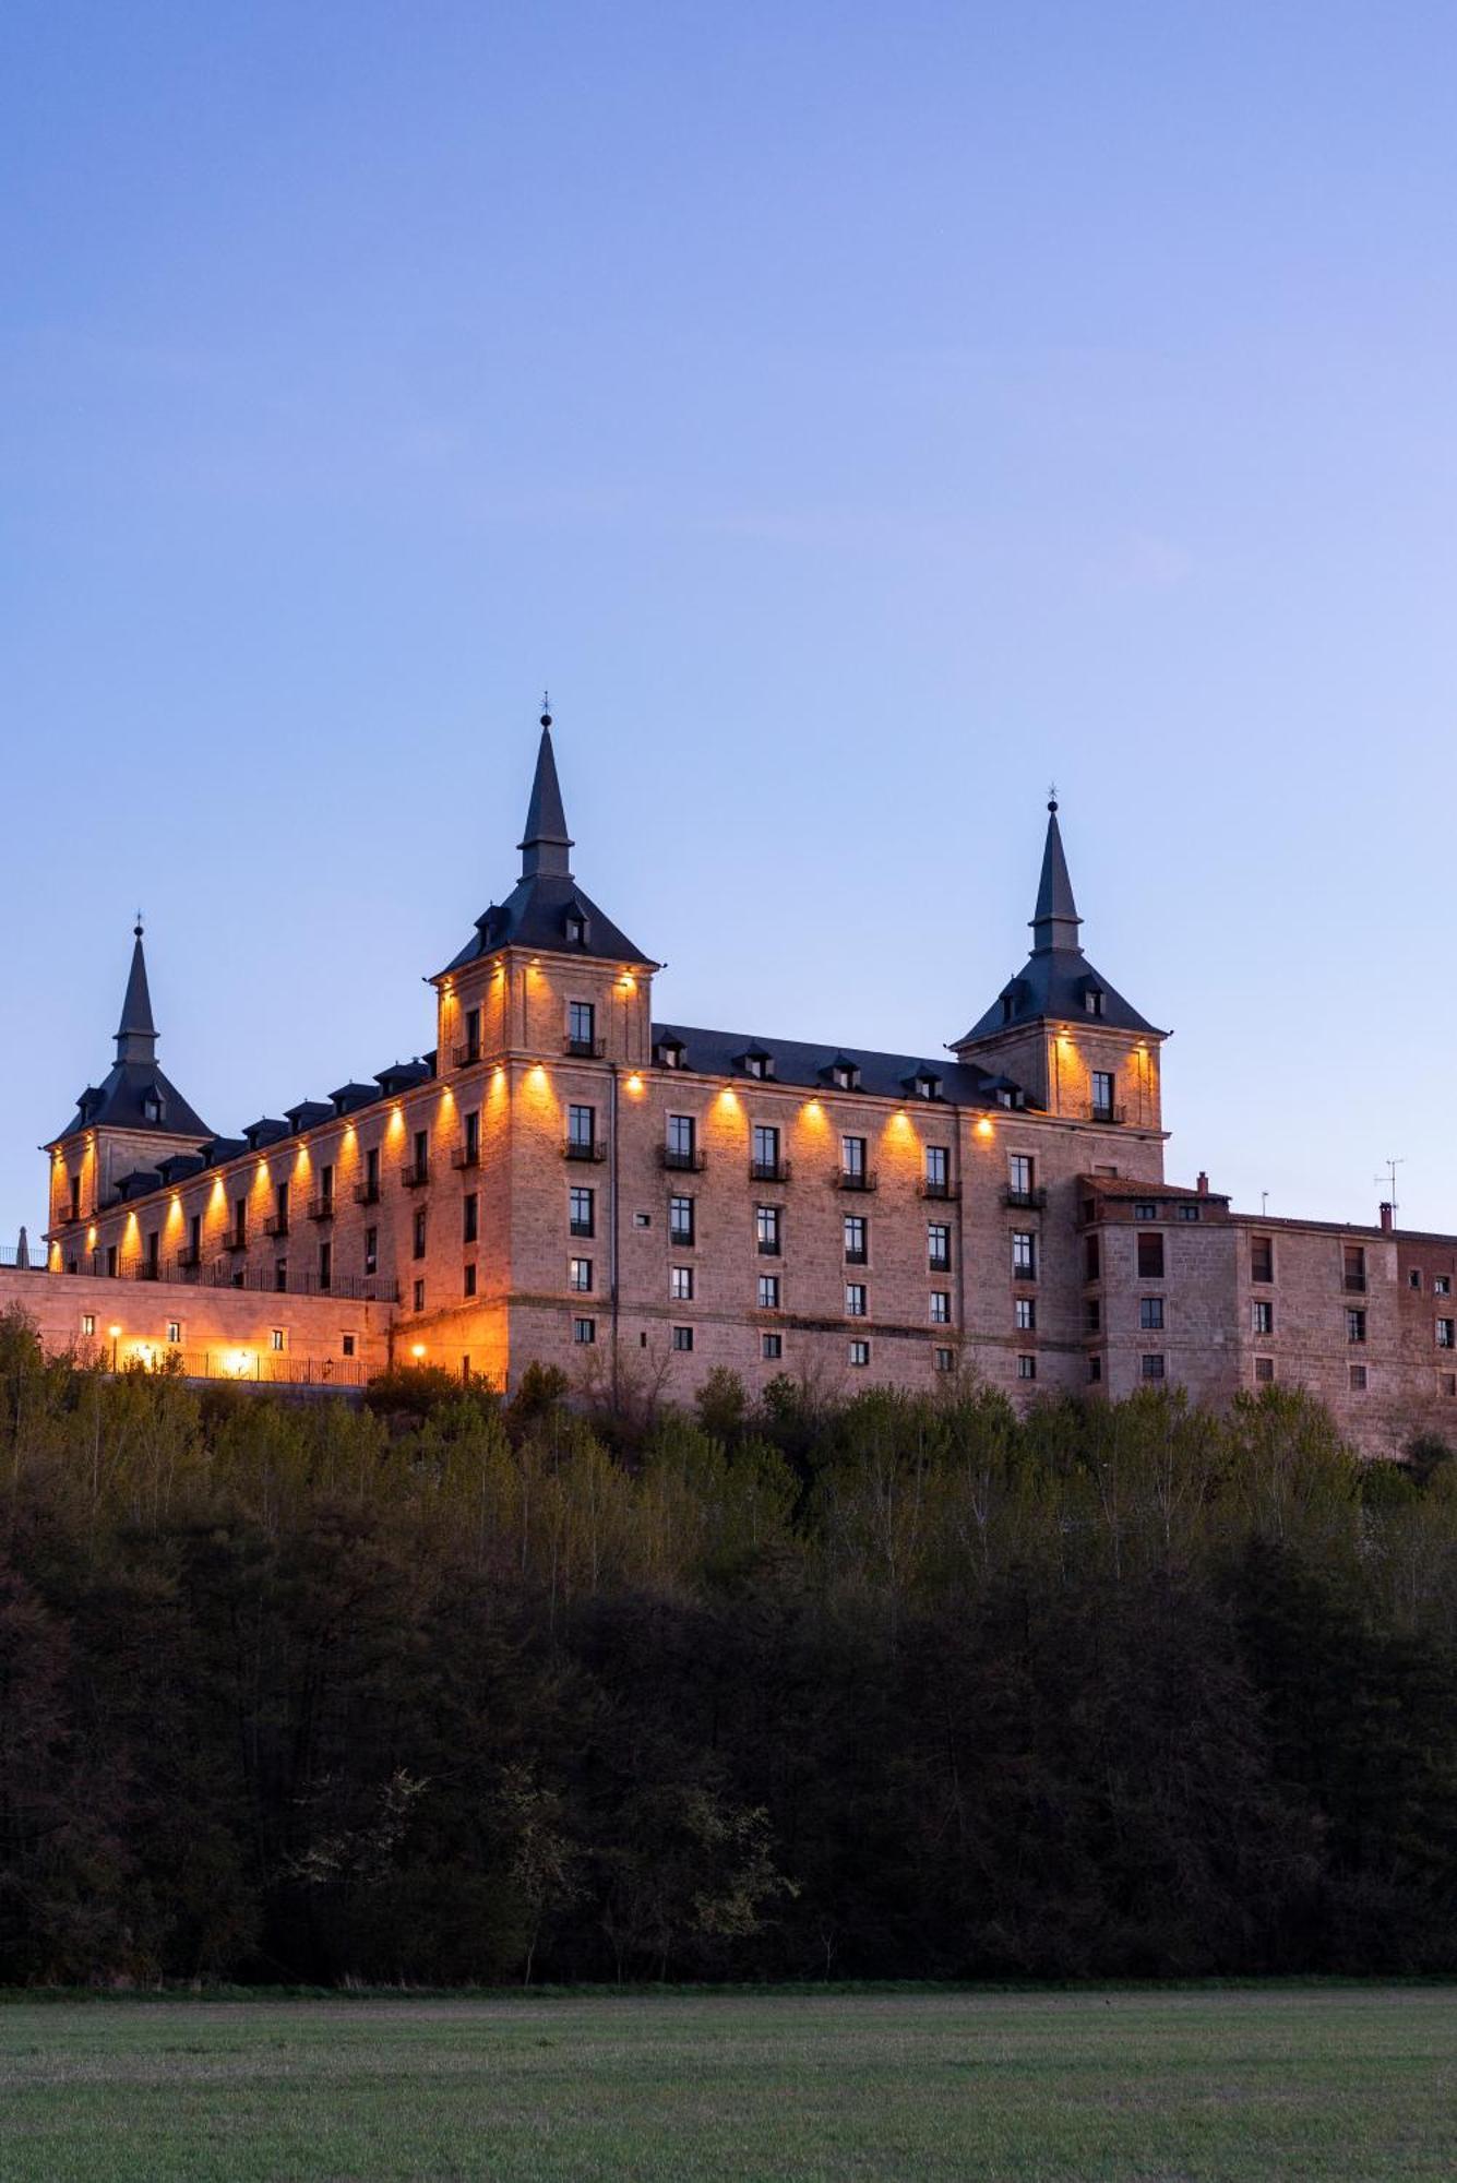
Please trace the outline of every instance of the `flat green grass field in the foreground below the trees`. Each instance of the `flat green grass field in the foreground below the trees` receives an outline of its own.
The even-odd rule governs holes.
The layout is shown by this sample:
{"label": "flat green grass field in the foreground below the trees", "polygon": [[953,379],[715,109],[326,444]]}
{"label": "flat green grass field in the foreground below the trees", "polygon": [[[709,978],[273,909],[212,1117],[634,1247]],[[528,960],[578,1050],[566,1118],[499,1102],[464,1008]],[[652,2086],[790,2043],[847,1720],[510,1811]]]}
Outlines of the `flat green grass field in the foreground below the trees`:
{"label": "flat green grass field in the foreground below the trees", "polygon": [[1457,2172],[1457,1989],[0,2008],[0,2176]]}

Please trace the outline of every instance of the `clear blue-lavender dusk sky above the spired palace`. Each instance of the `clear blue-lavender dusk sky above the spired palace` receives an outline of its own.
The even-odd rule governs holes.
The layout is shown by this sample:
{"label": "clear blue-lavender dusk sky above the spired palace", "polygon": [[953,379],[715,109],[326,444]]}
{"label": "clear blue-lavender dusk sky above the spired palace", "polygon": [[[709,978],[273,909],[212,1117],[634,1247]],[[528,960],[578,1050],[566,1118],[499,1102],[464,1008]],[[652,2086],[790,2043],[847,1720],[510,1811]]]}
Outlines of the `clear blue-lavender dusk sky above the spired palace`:
{"label": "clear blue-lavender dusk sky above the spired palace", "polygon": [[432,1043],[550,683],[659,1013],[934,1054],[1049,777],[1169,1172],[1457,1227],[1457,13],[0,13],[0,1231]]}

